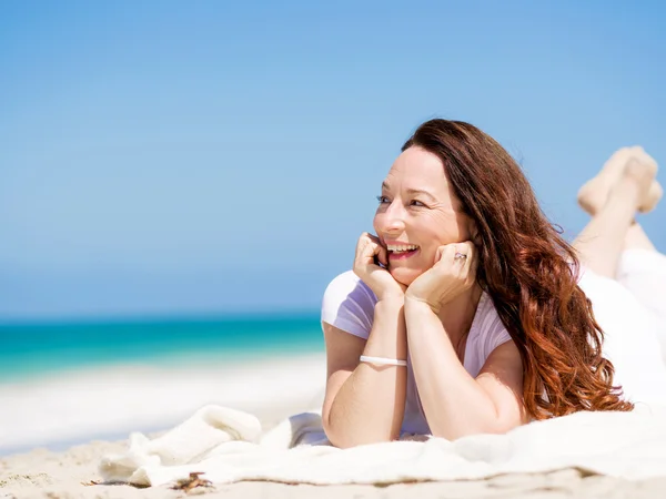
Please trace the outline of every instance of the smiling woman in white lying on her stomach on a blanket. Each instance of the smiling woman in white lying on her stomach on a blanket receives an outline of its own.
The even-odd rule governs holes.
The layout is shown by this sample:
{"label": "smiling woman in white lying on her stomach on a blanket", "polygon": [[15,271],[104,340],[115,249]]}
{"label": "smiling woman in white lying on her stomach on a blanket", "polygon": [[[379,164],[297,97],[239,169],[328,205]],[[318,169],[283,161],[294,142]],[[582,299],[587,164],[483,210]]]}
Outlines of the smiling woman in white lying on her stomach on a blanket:
{"label": "smiling woman in white lying on her stomach on a blanket", "polygon": [[382,184],[376,236],[324,295],[331,442],[664,401],[666,256],[635,222],[662,195],[656,171],[640,147],[616,152],[581,190],[593,218],[569,245],[497,142],[421,125]]}

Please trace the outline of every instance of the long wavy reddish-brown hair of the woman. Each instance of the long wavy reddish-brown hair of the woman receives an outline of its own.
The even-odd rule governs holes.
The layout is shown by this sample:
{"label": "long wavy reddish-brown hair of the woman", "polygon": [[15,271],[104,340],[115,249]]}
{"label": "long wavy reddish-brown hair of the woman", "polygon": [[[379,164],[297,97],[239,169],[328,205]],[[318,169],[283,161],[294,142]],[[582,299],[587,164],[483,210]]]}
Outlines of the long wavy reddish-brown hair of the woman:
{"label": "long wavy reddish-brown hair of the woman", "polygon": [[478,284],[521,352],[525,409],[535,419],[578,410],[632,410],[602,355],[604,334],[577,285],[578,258],[542,212],[518,164],[460,121],[422,124],[403,151],[437,155],[478,230]]}

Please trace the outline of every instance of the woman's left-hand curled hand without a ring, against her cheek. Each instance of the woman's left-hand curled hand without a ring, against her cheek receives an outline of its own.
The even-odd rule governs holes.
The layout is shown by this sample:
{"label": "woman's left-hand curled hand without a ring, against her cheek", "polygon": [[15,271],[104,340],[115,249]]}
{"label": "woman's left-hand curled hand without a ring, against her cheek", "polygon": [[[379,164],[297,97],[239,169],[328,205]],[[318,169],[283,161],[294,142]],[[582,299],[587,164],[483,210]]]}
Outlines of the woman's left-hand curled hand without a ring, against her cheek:
{"label": "woman's left-hand curled hand without a ring, against her cheek", "polygon": [[375,257],[384,267],[389,266],[389,254],[380,238],[364,232],[356,244],[354,274],[372,289],[377,299],[404,298],[407,287],[395,281],[386,268],[379,266]]}

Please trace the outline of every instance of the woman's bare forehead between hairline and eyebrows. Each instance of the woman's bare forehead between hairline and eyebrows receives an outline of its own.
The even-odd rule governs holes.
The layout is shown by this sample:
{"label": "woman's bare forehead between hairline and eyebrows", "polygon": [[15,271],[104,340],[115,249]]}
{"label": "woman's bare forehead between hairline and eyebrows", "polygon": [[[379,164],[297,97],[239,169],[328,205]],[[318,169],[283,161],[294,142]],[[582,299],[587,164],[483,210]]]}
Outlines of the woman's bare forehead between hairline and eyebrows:
{"label": "woman's bare forehead between hairline and eyebrows", "polygon": [[410,147],[397,156],[385,182],[391,189],[446,190],[448,187],[442,161],[421,147]]}

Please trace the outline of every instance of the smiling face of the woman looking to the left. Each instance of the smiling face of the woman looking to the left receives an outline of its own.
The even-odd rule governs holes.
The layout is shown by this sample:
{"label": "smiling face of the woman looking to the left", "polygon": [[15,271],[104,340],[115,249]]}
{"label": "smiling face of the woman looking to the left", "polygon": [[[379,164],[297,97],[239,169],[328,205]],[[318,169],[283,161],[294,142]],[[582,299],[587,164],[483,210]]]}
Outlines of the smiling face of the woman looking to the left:
{"label": "smiling face of the woman looking to the left", "polygon": [[404,151],[382,184],[374,230],[389,249],[389,271],[406,286],[432,268],[437,247],[470,241],[470,217],[444,173],[424,149]]}

